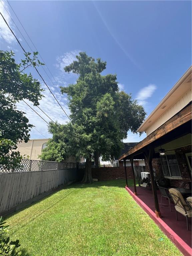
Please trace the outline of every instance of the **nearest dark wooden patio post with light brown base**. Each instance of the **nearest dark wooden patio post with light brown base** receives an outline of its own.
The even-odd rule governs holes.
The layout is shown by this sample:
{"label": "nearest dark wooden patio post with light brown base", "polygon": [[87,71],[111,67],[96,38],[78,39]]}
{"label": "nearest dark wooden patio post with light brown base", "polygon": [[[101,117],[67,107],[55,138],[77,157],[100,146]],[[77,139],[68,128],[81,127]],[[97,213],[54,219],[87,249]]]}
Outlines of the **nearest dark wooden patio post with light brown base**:
{"label": "nearest dark wooden patio post with light brown base", "polygon": [[158,202],[158,198],[157,198],[157,190],[156,190],[156,184],[155,184],[155,178],[154,178],[153,166],[152,166],[153,149],[149,149],[148,151],[145,151],[144,155],[145,155],[145,158],[149,165],[149,172],[150,172],[150,176],[151,176],[151,187],[152,187],[153,198],[154,198],[154,203],[155,203],[155,215],[157,217],[161,218],[161,212],[159,209],[159,202]]}

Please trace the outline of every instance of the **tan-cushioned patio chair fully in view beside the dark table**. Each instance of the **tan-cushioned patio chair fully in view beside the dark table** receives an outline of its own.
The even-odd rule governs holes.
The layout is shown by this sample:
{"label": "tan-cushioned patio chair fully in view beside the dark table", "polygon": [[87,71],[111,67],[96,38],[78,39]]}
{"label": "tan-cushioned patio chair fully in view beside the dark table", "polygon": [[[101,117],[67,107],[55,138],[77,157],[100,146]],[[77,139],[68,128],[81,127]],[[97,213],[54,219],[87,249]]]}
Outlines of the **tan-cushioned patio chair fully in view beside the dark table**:
{"label": "tan-cushioned patio chair fully in view beside the dark table", "polygon": [[170,188],[169,189],[169,194],[171,195],[174,205],[175,205],[175,210],[176,210],[176,220],[177,220],[177,212],[181,213],[183,216],[186,217],[187,220],[187,230],[189,230],[188,226],[188,218],[191,218],[192,216],[192,210],[189,207],[189,205],[186,203],[184,200],[183,196],[181,193],[175,189],[175,188]]}

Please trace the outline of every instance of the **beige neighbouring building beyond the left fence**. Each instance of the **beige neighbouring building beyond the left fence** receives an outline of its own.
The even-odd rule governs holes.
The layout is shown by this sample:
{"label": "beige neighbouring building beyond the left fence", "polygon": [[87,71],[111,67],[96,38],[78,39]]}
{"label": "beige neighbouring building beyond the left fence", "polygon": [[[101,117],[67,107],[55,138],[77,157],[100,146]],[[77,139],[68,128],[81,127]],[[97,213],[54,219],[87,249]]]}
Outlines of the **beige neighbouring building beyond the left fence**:
{"label": "beige neighbouring building beyond the left fence", "polygon": [[29,140],[27,143],[19,141],[17,150],[22,156],[28,156],[31,160],[40,160],[38,156],[41,154],[41,150],[46,147],[48,140],[49,139],[34,139]]}

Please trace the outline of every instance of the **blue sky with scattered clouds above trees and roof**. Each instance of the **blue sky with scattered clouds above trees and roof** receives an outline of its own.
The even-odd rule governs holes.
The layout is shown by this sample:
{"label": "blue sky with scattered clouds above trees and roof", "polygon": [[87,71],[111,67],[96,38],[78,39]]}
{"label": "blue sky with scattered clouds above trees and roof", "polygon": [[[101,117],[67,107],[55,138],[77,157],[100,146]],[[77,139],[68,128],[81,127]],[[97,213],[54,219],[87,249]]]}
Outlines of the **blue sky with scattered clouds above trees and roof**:
{"label": "blue sky with scattered clouds above trees and roof", "polygon": [[[3,4],[34,49],[8,3]],[[103,74],[116,73],[121,90],[132,93],[147,114],[191,65],[191,1],[10,1],[10,4],[55,77],[57,83],[53,80],[53,86],[44,70],[39,69],[68,114],[59,85],[75,82],[77,77],[66,74],[63,67],[79,51],[106,61]],[[24,48],[30,51],[1,3],[0,11]],[[0,48],[15,51],[17,60],[23,58],[21,48],[2,19]],[[32,73],[39,79],[37,73]],[[65,123],[67,118],[51,94],[48,90],[44,94],[40,107],[54,120]],[[46,123],[29,107],[19,103],[18,108],[26,112],[38,131],[50,137]],[[32,129],[31,138],[43,138],[37,130]],[[129,132],[125,141],[140,141],[144,137],[145,134],[139,137]]]}

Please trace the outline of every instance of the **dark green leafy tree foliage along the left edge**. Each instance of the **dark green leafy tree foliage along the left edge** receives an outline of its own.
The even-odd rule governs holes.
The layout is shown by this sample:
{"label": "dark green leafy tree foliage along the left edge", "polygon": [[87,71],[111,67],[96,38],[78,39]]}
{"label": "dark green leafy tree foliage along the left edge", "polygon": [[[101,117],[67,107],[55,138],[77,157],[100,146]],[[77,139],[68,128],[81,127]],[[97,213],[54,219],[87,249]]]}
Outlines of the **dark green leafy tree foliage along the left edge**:
{"label": "dark green leafy tree foliage along the left edge", "polygon": [[[17,64],[12,51],[0,51],[0,163],[8,164],[9,162],[9,166],[12,164],[12,168],[17,167],[21,159],[20,154],[14,152],[16,143],[19,140],[27,142],[30,138],[29,132],[33,127],[32,124],[29,124],[25,113],[17,110],[16,104],[27,99],[37,106],[43,97],[43,89],[41,89],[39,81],[34,79],[31,73],[24,73],[29,66],[42,65],[37,54],[38,52],[34,52],[33,57],[30,57],[31,53],[29,52],[25,54],[25,59]],[[7,139],[7,142],[3,139]],[[7,153],[8,148],[10,153]]]}

